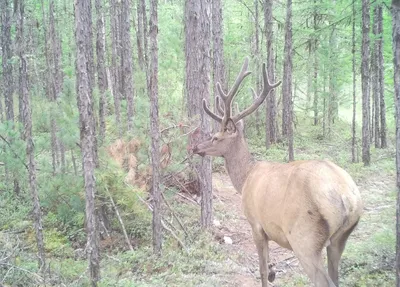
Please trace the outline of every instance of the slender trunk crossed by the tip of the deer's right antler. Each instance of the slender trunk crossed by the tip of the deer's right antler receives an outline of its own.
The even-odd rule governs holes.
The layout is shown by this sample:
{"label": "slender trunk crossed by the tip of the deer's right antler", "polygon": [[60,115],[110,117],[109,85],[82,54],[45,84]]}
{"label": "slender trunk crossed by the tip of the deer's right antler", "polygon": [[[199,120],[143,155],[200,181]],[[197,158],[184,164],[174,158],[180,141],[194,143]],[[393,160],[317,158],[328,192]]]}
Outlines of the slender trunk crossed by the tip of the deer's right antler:
{"label": "slender trunk crossed by the tip of the deer's right antler", "polygon": [[[273,0],[264,1],[264,26],[267,44],[267,72],[271,83],[275,82],[274,30],[272,17]],[[276,91],[272,90],[266,101],[265,145],[276,143]]]}

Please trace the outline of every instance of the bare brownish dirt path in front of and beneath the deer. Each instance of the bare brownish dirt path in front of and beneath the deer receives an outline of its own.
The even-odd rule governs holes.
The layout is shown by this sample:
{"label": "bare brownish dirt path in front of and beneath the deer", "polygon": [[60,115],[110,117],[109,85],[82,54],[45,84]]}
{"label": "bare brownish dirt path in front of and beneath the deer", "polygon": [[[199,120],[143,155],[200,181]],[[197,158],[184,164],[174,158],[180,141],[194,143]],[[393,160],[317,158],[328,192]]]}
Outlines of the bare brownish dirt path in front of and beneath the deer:
{"label": "bare brownish dirt path in front of and beneath the deer", "polygon": [[[232,239],[232,244],[224,244],[231,254],[231,259],[240,265],[242,273],[232,278],[229,286],[253,287],[260,286],[258,255],[248,224],[242,209],[241,196],[232,186],[226,174],[213,175],[216,219],[221,226],[218,228],[223,236]],[[270,242],[270,263],[274,265],[276,278],[271,286],[283,285],[290,277],[300,273],[299,262],[293,252]]]}

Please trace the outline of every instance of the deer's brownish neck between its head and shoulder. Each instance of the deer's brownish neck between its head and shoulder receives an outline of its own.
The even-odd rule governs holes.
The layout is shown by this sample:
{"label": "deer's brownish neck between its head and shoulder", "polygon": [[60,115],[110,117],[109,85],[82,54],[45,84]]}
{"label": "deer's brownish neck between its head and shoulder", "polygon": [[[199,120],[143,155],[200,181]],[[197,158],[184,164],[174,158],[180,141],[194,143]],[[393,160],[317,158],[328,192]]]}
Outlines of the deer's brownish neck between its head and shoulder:
{"label": "deer's brownish neck between its head and shoulder", "polygon": [[225,168],[235,189],[242,193],[249,171],[255,164],[244,138],[240,139],[224,156]]}

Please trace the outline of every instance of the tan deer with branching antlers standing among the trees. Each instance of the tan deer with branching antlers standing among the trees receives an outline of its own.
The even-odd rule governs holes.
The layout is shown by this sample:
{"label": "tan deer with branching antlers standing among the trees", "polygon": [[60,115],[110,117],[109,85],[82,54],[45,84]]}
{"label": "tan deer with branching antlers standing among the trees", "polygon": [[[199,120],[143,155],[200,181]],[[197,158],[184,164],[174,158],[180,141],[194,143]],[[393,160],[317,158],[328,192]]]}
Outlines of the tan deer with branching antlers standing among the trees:
{"label": "tan deer with branching antlers standing among the trees", "polygon": [[[246,58],[228,93],[217,83],[216,112],[212,112],[203,99],[205,113],[220,123],[220,128],[211,138],[194,146],[193,153],[224,158],[225,168],[241,194],[242,210],[251,226],[262,287],[268,286],[269,277],[270,281],[275,277],[268,268],[271,240],[294,252],[315,286],[338,287],[342,253],[363,210],[360,192],[351,176],[329,160],[279,163],[256,161],[252,157],[243,132],[243,119],[281,82],[269,82],[264,63],[262,91],[256,94],[251,89],[253,103],[243,111],[239,111],[236,104],[233,115],[233,98],[251,73],[248,62]],[[323,263],[324,248],[328,272]]]}

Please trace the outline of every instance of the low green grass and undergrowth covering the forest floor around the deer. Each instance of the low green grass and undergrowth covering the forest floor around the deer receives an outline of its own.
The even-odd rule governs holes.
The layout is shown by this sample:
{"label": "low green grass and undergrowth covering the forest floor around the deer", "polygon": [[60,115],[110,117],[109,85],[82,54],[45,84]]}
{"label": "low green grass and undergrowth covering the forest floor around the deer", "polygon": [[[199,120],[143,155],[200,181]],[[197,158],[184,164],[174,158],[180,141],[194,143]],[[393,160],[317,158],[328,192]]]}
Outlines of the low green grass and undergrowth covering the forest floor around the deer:
{"label": "low green grass and undergrowth covering the forest floor around the deer", "polygon": [[[396,191],[393,147],[372,149],[371,165],[364,167],[362,163],[350,161],[351,135],[347,123],[337,122],[329,139],[322,138],[320,127],[312,126],[309,119],[298,118],[298,121],[296,159],[330,159],[336,162],[353,176],[365,202],[362,220],[350,237],[343,255],[340,270],[342,286],[394,286]],[[251,129],[249,132],[250,149],[256,158],[287,160],[287,148],[283,143],[266,151],[263,138],[251,136]],[[214,169],[221,170],[222,163],[221,159],[216,159]],[[106,170],[99,174],[98,180],[107,181],[113,186],[110,192],[119,203],[128,233],[137,239],[133,251],[127,251],[123,237],[104,250],[99,286],[241,286],[237,276],[253,276],[253,279],[257,276],[256,262],[252,262],[251,266],[238,264],[237,261],[245,257],[243,254],[239,251],[232,254],[232,249],[219,244],[212,234],[201,231],[199,206],[180,200],[174,189],[166,190],[165,196],[186,228],[187,234],[181,229],[175,230],[186,249],[180,248],[170,234],[165,233],[163,255],[155,257],[151,250],[148,210],[141,206],[130,190],[123,187],[122,175],[118,172]],[[64,190],[59,192],[64,197],[70,194],[67,190],[65,193]],[[79,199],[80,191],[75,185],[74,194]],[[0,261],[0,280],[9,286],[39,286],[30,207],[23,204],[21,199],[5,193],[0,194],[0,206],[0,258],[9,258],[9,265]],[[79,210],[80,205],[76,206]],[[84,246],[76,245],[77,242],[84,242],[82,228],[75,228],[82,219],[76,218],[76,223],[73,222],[75,225],[70,224],[72,227],[60,225],[57,212],[61,211],[54,209],[53,212],[48,212],[45,217],[46,252],[50,266],[47,284],[89,286],[87,261],[83,257]],[[215,217],[222,222],[237,220],[239,216],[231,210],[220,208],[216,203]],[[176,225],[167,210],[164,219]],[[120,232],[118,221],[114,220],[112,225],[115,232]],[[80,240],[76,240],[77,235]],[[287,273],[277,279],[280,280],[279,286],[310,285],[301,269],[290,271],[288,268]]]}

